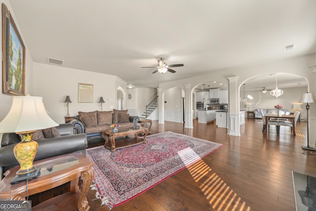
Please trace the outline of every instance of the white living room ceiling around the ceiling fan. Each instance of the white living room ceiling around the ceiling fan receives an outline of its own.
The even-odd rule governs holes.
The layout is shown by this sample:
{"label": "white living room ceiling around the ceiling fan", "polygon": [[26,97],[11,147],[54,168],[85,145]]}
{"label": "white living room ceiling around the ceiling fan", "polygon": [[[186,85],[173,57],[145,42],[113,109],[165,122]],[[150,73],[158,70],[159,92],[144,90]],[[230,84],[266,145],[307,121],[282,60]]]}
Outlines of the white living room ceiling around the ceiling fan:
{"label": "white living room ceiling around the ceiling fan", "polygon": [[[316,0],[9,2],[34,62],[60,59],[63,67],[117,75],[135,87],[316,52]],[[161,56],[184,67],[174,74],[141,68]]]}

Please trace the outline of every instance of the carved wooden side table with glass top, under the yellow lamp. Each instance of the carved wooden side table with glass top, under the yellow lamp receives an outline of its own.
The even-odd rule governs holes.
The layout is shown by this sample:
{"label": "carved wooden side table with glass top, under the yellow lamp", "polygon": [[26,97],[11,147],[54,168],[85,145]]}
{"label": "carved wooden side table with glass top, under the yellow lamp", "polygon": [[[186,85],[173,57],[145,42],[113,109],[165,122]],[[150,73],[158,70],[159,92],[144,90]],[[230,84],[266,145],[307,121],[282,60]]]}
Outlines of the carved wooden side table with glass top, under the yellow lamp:
{"label": "carved wooden side table with glass top, under the yellow lamp", "polygon": [[[38,161],[34,166],[40,168],[40,176],[36,179],[22,181],[11,185],[20,166],[6,171],[0,182],[1,200],[25,200],[28,195],[40,193],[70,181],[70,192],[65,193],[32,208],[32,211],[74,210],[88,211],[86,194],[94,177],[93,164],[82,154],[73,153]],[[79,177],[83,180],[79,190]],[[27,193],[28,190],[28,193]]]}

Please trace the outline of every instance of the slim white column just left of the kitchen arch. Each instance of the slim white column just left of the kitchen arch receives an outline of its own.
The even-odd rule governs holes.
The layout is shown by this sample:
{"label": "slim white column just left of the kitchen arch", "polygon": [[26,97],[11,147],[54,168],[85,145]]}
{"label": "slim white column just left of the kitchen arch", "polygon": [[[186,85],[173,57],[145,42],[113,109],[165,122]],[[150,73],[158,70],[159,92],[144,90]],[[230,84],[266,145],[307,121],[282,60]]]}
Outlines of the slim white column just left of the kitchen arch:
{"label": "slim white column just left of the kitchen arch", "polygon": [[185,116],[184,116],[184,127],[193,128],[193,100],[191,93],[191,84],[185,85]]}

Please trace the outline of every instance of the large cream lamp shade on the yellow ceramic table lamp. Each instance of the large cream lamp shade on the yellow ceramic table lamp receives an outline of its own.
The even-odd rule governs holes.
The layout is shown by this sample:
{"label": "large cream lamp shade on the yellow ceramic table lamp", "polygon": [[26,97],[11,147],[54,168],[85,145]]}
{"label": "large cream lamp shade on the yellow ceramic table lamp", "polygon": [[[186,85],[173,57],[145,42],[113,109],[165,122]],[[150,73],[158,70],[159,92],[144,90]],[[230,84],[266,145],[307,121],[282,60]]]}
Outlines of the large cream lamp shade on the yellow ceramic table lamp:
{"label": "large cream lamp shade on the yellow ceramic table lamp", "polygon": [[10,111],[0,123],[0,132],[23,132],[58,125],[46,113],[42,97],[13,96]]}

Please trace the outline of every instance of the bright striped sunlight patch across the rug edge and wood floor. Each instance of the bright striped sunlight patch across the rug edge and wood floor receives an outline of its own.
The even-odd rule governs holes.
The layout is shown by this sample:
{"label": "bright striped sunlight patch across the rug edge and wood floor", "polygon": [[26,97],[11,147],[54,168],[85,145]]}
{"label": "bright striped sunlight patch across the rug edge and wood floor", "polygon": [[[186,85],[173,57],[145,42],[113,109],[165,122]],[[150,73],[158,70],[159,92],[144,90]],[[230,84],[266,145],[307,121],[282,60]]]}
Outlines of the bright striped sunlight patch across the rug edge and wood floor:
{"label": "bright striped sunlight patch across the rug edge and wood floor", "polygon": [[[241,198],[225,183],[223,179],[219,177],[212,169],[202,161],[198,155],[190,148],[185,149],[184,152],[179,153],[184,163],[188,163],[189,157],[194,157],[198,160],[195,164],[188,166],[187,169],[191,173],[194,180],[198,183],[202,179],[205,181],[199,186],[204,193],[209,204],[216,211],[250,211],[250,207],[246,206],[245,202],[242,202]],[[195,155],[196,156],[195,156]],[[191,162],[192,163],[192,162]]]}

